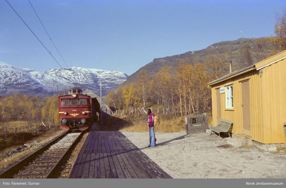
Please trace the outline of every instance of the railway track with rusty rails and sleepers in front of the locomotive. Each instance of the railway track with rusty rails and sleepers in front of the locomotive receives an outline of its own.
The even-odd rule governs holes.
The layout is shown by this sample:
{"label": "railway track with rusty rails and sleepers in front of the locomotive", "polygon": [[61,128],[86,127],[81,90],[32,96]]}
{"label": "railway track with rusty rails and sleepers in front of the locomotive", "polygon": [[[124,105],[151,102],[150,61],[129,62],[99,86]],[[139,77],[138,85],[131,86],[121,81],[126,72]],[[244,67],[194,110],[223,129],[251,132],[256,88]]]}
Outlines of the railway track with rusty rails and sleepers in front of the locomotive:
{"label": "railway track with rusty rails and sleepers in front of the locomotive", "polygon": [[55,178],[85,131],[65,132],[6,171],[0,178]]}

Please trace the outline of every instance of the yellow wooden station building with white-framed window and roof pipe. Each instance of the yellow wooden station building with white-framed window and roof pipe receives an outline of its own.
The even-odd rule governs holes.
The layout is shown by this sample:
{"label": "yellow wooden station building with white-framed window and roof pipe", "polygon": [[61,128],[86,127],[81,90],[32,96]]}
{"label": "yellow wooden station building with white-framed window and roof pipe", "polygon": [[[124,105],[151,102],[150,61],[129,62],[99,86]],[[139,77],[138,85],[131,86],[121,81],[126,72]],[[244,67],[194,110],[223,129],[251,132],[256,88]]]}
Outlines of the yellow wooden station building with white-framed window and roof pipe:
{"label": "yellow wooden station building with white-framed window and roof pipe", "polygon": [[[231,71],[231,62],[230,62]],[[212,126],[233,122],[232,133],[262,144],[286,143],[286,51],[208,83]]]}

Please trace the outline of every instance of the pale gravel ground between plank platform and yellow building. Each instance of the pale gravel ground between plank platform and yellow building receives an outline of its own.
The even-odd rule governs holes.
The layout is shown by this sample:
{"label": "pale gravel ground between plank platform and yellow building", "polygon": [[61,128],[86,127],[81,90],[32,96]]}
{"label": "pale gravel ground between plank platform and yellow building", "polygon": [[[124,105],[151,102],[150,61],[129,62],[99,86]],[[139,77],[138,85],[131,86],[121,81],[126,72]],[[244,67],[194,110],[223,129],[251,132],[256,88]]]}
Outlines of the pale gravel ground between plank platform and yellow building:
{"label": "pale gravel ground between plank platform and yellow building", "polygon": [[155,132],[157,146],[147,147],[149,133],[122,134],[173,178],[286,178],[286,149],[233,148],[226,139],[185,132]]}

